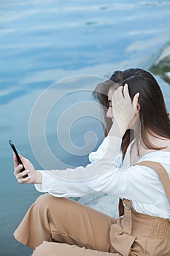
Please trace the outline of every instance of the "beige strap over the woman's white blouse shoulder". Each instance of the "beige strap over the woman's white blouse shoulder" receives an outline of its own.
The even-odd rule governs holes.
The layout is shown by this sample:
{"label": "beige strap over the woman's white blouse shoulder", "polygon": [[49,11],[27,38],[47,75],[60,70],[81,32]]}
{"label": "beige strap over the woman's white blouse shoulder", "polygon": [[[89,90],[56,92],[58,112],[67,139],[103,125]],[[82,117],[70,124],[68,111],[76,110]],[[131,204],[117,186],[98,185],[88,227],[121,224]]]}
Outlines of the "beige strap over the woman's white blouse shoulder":
{"label": "beige strap over the woman's white blouse shoulder", "polygon": [[168,198],[170,204],[170,178],[165,168],[159,162],[152,161],[142,161],[137,163],[136,165],[144,165],[150,167],[158,173],[158,176],[163,184],[163,188],[166,192],[166,197]]}

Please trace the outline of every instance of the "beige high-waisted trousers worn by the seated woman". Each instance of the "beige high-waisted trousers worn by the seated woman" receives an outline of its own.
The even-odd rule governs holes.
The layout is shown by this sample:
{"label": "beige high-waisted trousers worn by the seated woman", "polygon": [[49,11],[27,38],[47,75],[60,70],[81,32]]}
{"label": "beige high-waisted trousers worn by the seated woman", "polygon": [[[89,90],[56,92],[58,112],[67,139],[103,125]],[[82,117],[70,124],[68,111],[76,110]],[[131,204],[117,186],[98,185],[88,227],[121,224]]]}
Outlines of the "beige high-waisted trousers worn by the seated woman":
{"label": "beige high-waisted trousers worn by the seated woman", "polygon": [[113,219],[74,200],[45,194],[14,236],[34,256],[170,256],[169,220],[127,208],[125,217]]}

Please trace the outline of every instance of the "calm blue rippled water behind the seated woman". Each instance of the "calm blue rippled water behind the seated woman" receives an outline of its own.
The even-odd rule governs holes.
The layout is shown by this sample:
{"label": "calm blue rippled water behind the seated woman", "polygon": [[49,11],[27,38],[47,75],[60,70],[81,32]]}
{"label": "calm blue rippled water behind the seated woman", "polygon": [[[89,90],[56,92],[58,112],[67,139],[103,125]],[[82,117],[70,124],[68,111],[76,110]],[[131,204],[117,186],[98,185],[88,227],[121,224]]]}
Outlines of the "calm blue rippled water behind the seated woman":
{"label": "calm blue rippled water behind the seated woman", "polygon": [[39,195],[12,176],[8,140],[36,168],[86,165],[104,136],[91,91],[115,69],[148,68],[169,37],[170,1],[0,2],[1,256],[30,255],[12,233]]}

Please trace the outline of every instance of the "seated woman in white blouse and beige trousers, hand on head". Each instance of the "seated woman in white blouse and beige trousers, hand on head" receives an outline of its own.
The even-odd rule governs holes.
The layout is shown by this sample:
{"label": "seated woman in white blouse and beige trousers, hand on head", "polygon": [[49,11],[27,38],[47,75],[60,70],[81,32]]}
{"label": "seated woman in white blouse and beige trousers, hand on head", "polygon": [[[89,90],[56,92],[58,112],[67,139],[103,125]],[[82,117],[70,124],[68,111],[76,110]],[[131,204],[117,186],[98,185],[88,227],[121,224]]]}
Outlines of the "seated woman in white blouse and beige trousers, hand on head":
{"label": "seated woman in white blouse and beige trousers, hand on head", "polygon": [[[134,69],[120,84],[108,83],[107,89],[98,86],[96,95],[105,106],[106,89],[112,127],[98,151],[90,154],[90,165],[35,171],[21,157],[28,170],[20,173],[22,166],[14,157],[18,182],[34,183],[50,194],[36,200],[15,231],[34,256],[170,255],[170,206],[163,189],[170,175],[170,121],[161,89],[142,69]],[[129,129],[134,129],[132,141]],[[65,198],[97,192],[121,197],[125,215],[114,219]]]}

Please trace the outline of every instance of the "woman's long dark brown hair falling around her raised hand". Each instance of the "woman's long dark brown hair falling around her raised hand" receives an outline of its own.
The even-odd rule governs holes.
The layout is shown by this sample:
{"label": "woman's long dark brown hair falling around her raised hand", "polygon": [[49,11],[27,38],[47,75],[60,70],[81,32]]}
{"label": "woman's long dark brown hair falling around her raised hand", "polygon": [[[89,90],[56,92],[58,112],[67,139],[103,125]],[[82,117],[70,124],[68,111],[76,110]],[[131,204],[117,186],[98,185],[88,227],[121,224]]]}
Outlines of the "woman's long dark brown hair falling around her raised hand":
{"label": "woman's long dark brown hair falling around her raised hand", "polygon": [[[144,145],[147,148],[162,149],[155,147],[147,138],[147,132],[163,138],[170,139],[170,120],[169,113],[166,110],[166,105],[163,99],[160,86],[150,72],[144,69],[125,69],[124,71],[116,70],[111,78],[104,83],[99,83],[93,91],[93,96],[101,104],[101,109],[104,116],[104,134],[107,136],[112,121],[107,118],[108,91],[110,88],[117,89],[119,86],[124,86],[128,83],[129,93],[131,99],[139,92],[140,105],[140,121],[141,121],[141,137]],[[128,129],[123,136],[121,149],[123,151],[123,158],[128,148],[129,143],[134,139],[134,131]]]}

